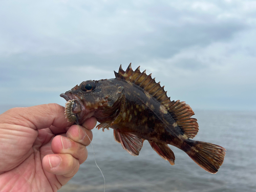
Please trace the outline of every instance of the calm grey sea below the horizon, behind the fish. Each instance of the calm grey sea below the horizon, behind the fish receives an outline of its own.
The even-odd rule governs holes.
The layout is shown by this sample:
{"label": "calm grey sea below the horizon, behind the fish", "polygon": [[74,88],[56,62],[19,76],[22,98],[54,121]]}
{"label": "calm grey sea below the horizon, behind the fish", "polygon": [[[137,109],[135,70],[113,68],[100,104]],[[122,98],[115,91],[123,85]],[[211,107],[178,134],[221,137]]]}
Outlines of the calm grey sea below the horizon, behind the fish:
{"label": "calm grey sea below the horizon, behind the fish", "polygon": [[[7,108],[2,108],[2,113]],[[170,165],[145,141],[137,157],[123,150],[113,130],[93,130],[96,161],[105,177],[105,191],[251,192],[256,191],[256,112],[194,110],[199,132],[194,140],[226,148],[219,172],[207,173],[183,151],[169,145],[176,160]],[[104,180],[92,146],[78,173],[59,191],[102,191]]]}

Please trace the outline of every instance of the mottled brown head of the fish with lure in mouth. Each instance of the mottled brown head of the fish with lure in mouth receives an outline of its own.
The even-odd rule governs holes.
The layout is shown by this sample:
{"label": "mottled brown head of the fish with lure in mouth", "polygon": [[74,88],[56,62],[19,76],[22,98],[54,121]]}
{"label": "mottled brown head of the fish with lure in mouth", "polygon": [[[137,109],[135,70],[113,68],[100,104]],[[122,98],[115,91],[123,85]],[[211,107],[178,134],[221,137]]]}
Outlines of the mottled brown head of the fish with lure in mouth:
{"label": "mottled brown head of the fish with lure in mouth", "polygon": [[65,94],[60,94],[67,101],[66,118],[69,122],[82,124],[92,116],[110,116],[116,109],[122,90],[123,87],[115,79],[83,81]]}

